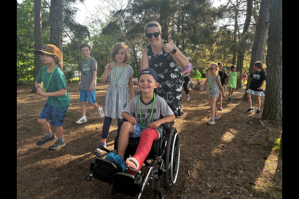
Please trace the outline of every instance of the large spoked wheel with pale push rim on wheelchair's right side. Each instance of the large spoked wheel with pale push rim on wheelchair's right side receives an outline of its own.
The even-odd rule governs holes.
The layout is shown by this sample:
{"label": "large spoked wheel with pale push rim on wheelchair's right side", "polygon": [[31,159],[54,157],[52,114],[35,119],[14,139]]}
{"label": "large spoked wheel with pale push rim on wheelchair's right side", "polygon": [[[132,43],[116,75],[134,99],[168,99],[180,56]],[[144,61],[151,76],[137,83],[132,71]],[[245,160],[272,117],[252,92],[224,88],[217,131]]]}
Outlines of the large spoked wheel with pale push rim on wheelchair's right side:
{"label": "large spoked wheel with pale push rim on wheelchair's right side", "polygon": [[178,177],[178,166],[180,161],[180,137],[175,128],[168,135],[166,158],[165,158],[165,185],[170,190]]}

